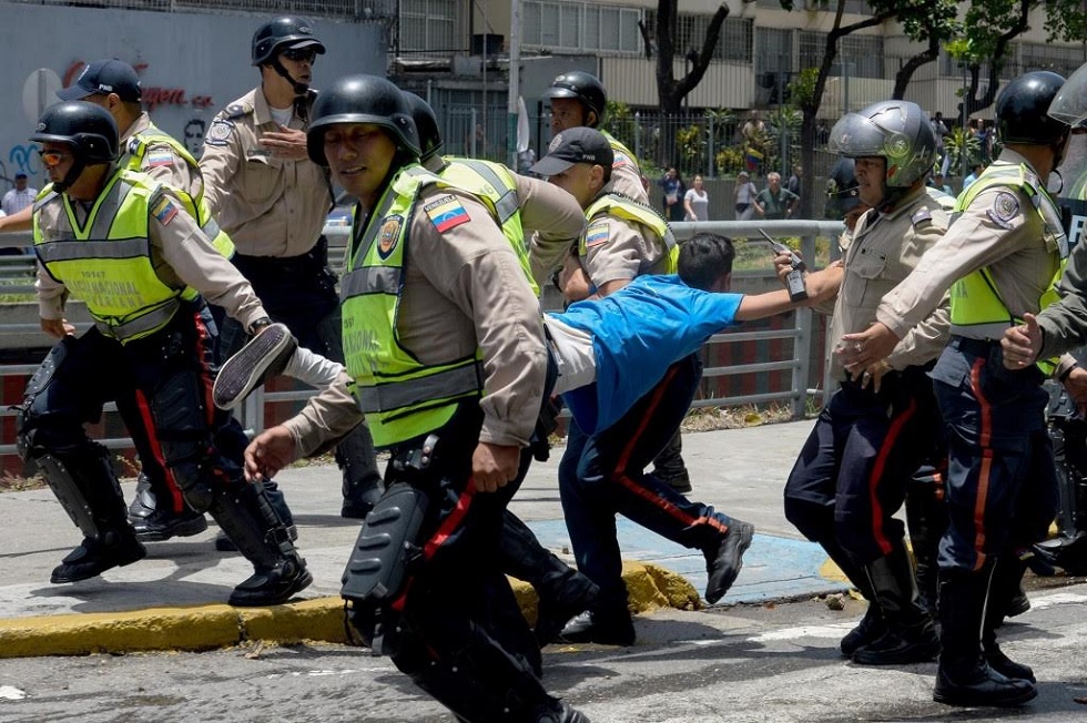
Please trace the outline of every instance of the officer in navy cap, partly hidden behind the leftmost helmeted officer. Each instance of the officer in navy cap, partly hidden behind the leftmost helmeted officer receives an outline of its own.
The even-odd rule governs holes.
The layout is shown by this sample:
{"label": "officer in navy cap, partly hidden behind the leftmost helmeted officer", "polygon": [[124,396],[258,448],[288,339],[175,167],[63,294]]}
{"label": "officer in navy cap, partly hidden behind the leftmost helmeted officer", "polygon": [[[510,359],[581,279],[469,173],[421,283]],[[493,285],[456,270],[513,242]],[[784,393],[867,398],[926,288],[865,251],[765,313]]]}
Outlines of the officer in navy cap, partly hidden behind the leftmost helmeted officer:
{"label": "officer in navy cap, partly hidden behind the leftmost helmeted officer", "polygon": [[[211,216],[196,160],[180,142],[151,122],[140,104],[143,89],[131,65],[116,59],[94,61],[83,69],[74,83],[58,91],[57,95],[64,101],[85,100],[108,110],[121,132],[118,164],[187,193],[196,210],[196,222],[220,253],[230,258],[234,244]],[[118,399],[118,410],[140,456],[136,495],[129,506],[129,518],[136,537],[151,542],[203,532],[207,529],[204,516],[185,505],[173,475],[162,464],[158,440],[149,435],[150,428],[143,424],[135,400]],[[275,495],[274,501],[281,501],[282,495]],[[277,511],[281,517],[288,512],[285,505]]]}

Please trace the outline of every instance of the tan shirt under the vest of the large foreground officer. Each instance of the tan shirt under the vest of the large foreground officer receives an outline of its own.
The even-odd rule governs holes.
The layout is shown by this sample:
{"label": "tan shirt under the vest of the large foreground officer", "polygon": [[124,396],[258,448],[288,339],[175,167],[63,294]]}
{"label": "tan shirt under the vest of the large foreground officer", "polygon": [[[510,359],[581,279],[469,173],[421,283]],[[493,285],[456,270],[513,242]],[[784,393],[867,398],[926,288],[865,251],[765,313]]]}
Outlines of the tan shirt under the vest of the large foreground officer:
{"label": "tan shirt under the vest of the large foreground officer", "polygon": [[[469,221],[440,233],[424,206],[450,194]],[[525,447],[539,416],[547,370],[539,302],[509,242],[474,196],[428,187],[415,208],[407,230],[399,343],[424,364],[444,364],[481,349],[480,441]],[[347,409],[345,390],[333,385],[287,425],[299,454],[328,440],[329,429],[349,429],[357,407],[355,413]]]}

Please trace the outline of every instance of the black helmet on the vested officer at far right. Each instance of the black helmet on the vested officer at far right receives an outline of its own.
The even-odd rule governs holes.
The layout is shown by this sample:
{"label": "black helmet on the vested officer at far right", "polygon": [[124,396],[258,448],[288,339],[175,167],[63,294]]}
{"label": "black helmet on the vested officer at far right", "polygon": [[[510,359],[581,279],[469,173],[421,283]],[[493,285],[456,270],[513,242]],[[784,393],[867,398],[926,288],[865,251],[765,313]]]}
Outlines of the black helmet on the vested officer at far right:
{"label": "black helmet on the vested officer at far right", "polygon": [[1065,79],[1048,70],[1024,73],[996,99],[996,125],[1004,143],[1063,143],[1068,125],[1047,115]]}

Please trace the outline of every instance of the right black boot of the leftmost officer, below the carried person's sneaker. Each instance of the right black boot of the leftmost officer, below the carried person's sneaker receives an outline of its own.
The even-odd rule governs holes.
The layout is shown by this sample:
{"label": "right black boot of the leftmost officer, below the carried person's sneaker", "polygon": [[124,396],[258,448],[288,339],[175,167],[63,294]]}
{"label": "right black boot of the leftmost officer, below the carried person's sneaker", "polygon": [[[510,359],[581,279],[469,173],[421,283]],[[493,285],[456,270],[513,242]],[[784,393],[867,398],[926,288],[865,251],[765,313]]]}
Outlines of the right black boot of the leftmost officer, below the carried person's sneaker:
{"label": "right black boot of the leftmost officer, below the carried person's sneaker", "polygon": [[280,604],[313,582],[263,486],[238,480],[216,493],[209,511],[255,569],[234,588],[230,604]]}

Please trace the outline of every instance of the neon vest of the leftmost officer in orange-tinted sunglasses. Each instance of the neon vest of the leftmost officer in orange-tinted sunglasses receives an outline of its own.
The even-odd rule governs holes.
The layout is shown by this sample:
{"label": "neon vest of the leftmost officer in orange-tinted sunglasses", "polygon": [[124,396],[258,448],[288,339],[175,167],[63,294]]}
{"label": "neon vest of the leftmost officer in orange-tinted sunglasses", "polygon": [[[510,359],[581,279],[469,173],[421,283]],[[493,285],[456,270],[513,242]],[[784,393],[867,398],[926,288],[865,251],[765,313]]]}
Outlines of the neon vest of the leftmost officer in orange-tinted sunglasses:
{"label": "neon vest of the leftmost officer in orange-tinted sunglasses", "polygon": [[[45,238],[34,214],[34,245],[45,271],[87,304],[95,326],[122,343],[164,327],[181,299],[196,298],[189,287],[166,286],[155,274],[149,238],[150,214],[162,186],[131,171],[116,170],[80,226],[67,195],[45,203],[62,204],[68,227]],[[52,231],[52,230],[51,230]]]}

